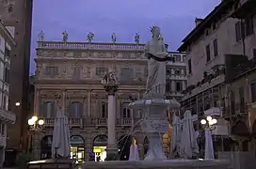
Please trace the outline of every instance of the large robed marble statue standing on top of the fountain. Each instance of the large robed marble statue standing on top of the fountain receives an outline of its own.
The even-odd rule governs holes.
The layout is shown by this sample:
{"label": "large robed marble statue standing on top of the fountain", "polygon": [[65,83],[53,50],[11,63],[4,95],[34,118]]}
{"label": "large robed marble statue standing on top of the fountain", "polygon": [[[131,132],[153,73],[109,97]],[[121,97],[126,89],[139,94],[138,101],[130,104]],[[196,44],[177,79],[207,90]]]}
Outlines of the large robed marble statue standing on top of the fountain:
{"label": "large robed marble statue standing on top of the fountain", "polygon": [[165,95],[166,92],[166,61],[168,57],[167,49],[163,38],[160,38],[160,28],[151,28],[152,39],[147,42],[145,55],[148,57],[148,79],[146,93]]}

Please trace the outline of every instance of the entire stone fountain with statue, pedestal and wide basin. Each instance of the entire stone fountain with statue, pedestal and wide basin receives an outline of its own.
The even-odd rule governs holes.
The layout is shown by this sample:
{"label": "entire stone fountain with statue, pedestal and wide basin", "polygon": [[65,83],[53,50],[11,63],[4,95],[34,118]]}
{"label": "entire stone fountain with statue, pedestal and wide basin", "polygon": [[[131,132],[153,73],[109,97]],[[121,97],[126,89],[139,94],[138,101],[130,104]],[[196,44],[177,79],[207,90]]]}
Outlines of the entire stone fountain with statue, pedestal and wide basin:
{"label": "entire stone fountain with statue, pedestal and wide basin", "polygon": [[121,168],[121,169],[224,169],[228,168],[228,161],[218,160],[167,160],[162,147],[162,134],[168,131],[166,111],[168,108],[179,108],[176,100],[167,100],[166,91],[166,45],[160,34],[160,28],[153,26],[152,40],[146,45],[145,54],[149,58],[148,79],[146,92],[142,100],[135,100],[130,103],[134,110],[141,110],[141,130],[150,141],[150,148],[144,161],[102,161],[85,162],[83,168]]}

